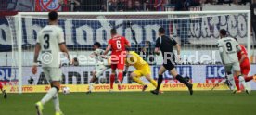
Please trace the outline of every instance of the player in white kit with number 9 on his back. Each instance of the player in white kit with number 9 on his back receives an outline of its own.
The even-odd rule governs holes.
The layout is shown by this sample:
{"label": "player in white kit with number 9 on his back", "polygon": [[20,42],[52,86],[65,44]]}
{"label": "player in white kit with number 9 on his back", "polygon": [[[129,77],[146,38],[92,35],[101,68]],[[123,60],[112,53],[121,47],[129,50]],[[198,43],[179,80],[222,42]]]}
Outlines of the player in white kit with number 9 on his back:
{"label": "player in white kit with number 9 on his back", "polygon": [[218,40],[217,44],[219,47],[220,56],[224,63],[224,69],[227,74],[227,78],[233,87],[233,93],[237,92],[234,80],[235,75],[238,77],[239,82],[244,85],[246,93],[249,94],[249,90],[246,88],[245,79],[241,75],[240,65],[237,57],[237,52],[240,51],[241,48],[238,46],[238,43],[234,38],[227,37],[226,31],[224,29],[220,30],[220,37],[221,39]]}

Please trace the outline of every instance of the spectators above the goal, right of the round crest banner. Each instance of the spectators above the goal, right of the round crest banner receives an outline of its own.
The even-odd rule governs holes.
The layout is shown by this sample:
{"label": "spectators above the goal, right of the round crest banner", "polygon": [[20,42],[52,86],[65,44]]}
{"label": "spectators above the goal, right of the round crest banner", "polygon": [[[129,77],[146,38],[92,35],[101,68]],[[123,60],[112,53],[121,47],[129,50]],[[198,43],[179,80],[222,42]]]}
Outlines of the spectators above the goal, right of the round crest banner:
{"label": "spectators above the goal, right of the round crest banner", "polygon": [[190,6],[202,4],[251,3],[251,0],[68,0],[66,4],[63,4],[63,0],[58,1],[62,6],[73,6],[73,11],[164,11],[166,6],[188,10]]}

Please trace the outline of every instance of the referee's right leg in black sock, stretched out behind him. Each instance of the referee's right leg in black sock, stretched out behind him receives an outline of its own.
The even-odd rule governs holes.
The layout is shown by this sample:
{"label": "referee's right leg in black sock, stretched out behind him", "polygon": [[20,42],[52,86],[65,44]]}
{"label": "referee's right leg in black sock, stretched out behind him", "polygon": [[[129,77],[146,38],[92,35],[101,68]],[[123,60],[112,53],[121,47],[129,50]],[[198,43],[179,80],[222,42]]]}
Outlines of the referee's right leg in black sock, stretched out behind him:
{"label": "referee's right leg in black sock, stretched out behind him", "polygon": [[[173,68],[173,67],[172,67]],[[184,77],[182,77],[181,75],[178,74],[178,72],[176,71],[175,68],[173,68],[172,70],[170,70],[170,73],[173,75],[173,77],[175,79],[177,79],[180,83],[183,83],[186,85],[186,87],[189,90],[190,95],[193,95],[193,84],[190,84],[186,81],[186,79],[184,79]]]}

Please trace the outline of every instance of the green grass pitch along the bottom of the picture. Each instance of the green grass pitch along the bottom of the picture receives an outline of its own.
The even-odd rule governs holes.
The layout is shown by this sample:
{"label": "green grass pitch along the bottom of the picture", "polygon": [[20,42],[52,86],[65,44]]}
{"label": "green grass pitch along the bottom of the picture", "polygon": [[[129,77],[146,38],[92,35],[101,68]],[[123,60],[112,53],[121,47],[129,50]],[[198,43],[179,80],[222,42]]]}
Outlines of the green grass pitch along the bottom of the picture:
{"label": "green grass pitch along the bottom of the picture", "polygon": [[[0,98],[0,115],[35,115],[34,103],[45,94],[8,94]],[[60,94],[65,115],[255,115],[256,92],[250,95],[229,91],[71,93]],[[54,115],[53,102],[45,105],[45,115]]]}

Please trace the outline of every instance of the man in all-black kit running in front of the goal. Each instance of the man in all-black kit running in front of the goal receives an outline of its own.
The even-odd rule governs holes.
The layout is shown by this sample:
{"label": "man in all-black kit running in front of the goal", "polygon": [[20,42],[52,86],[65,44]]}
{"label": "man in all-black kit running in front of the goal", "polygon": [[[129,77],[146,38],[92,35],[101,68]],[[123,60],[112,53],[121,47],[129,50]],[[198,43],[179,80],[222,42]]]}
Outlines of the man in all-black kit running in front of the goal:
{"label": "man in all-black kit running in front of the goal", "polygon": [[157,39],[156,46],[155,46],[155,53],[159,55],[161,50],[162,57],[163,57],[163,64],[159,70],[159,79],[158,79],[157,89],[152,90],[151,93],[155,95],[159,94],[160,84],[162,83],[162,74],[166,70],[169,70],[174,78],[176,78],[180,83],[184,83],[187,86],[190,95],[193,95],[193,84],[187,83],[186,79],[184,79],[181,75],[179,75],[175,70],[175,56],[173,54],[173,46],[177,48],[178,59],[180,60],[180,45],[178,45],[173,38],[166,36],[165,30],[162,27],[160,27],[159,29],[159,35],[160,37]]}

